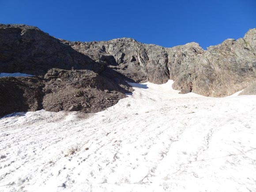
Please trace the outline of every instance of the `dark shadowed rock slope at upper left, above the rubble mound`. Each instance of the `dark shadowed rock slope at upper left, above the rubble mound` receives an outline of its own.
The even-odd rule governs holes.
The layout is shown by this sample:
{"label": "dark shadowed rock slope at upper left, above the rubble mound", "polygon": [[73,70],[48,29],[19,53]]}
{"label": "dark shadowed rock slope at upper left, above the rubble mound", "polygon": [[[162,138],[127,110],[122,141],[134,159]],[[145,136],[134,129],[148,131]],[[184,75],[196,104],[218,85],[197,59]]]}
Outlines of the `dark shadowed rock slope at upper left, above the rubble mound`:
{"label": "dark shadowed rock slope at upper left, above the rubble mound", "polygon": [[104,64],[78,53],[37,27],[0,25],[0,72],[45,75],[51,68],[101,72]]}

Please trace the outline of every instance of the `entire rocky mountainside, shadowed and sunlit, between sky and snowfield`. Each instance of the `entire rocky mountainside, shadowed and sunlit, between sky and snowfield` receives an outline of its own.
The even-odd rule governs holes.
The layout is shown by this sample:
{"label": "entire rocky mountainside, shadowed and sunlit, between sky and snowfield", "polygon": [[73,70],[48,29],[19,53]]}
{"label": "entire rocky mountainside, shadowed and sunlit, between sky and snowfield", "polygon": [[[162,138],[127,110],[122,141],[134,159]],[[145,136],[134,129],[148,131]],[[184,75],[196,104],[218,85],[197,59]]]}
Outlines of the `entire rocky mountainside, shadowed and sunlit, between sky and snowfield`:
{"label": "entire rocky mountainside, shadowed and sunlit, between sky and snowfield", "polygon": [[[132,91],[126,81],[173,79],[181,94],[223,97],[255,82],[256,29],[203,50],[194,42],[164,48],[131,38],[70,42],[37,27],[0,24],[0,72],[41,77],[0,79],[0,116],[38,109],[98,112]],[[7,103],[15,105],[6,109]]]}

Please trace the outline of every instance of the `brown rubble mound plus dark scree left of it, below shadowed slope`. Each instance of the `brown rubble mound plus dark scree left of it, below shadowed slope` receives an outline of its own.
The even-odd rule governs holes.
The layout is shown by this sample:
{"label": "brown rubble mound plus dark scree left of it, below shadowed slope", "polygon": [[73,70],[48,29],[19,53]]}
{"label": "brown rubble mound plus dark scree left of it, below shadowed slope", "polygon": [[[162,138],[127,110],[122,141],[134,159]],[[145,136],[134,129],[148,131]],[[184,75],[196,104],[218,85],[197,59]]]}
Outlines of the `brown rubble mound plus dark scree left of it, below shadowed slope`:
{"label": "brown rubble mound plus dark scree left of it, below shadowed slope", "polygon": [[125,98],[131,87],[90,70],[50,69],[44,78],[0,78],[0,117],[45,109],[96,113]]}

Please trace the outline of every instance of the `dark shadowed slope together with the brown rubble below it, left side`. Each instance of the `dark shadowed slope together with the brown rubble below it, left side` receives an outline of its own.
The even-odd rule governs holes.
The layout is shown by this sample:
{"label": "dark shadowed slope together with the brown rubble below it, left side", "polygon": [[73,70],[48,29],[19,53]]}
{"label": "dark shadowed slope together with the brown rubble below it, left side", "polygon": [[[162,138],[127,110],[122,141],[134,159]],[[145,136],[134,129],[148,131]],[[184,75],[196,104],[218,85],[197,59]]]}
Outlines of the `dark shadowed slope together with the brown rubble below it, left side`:
{"label": "dark shadowed slope together with the brown rubble below it, left side", "polygon": [[[0,117],[19,111],[94,113],[116,104],[131,81],[37,27],[0,25],[0,72],[41,78],[1,78]],[[38,78],[38,79],[37,79]]]}

